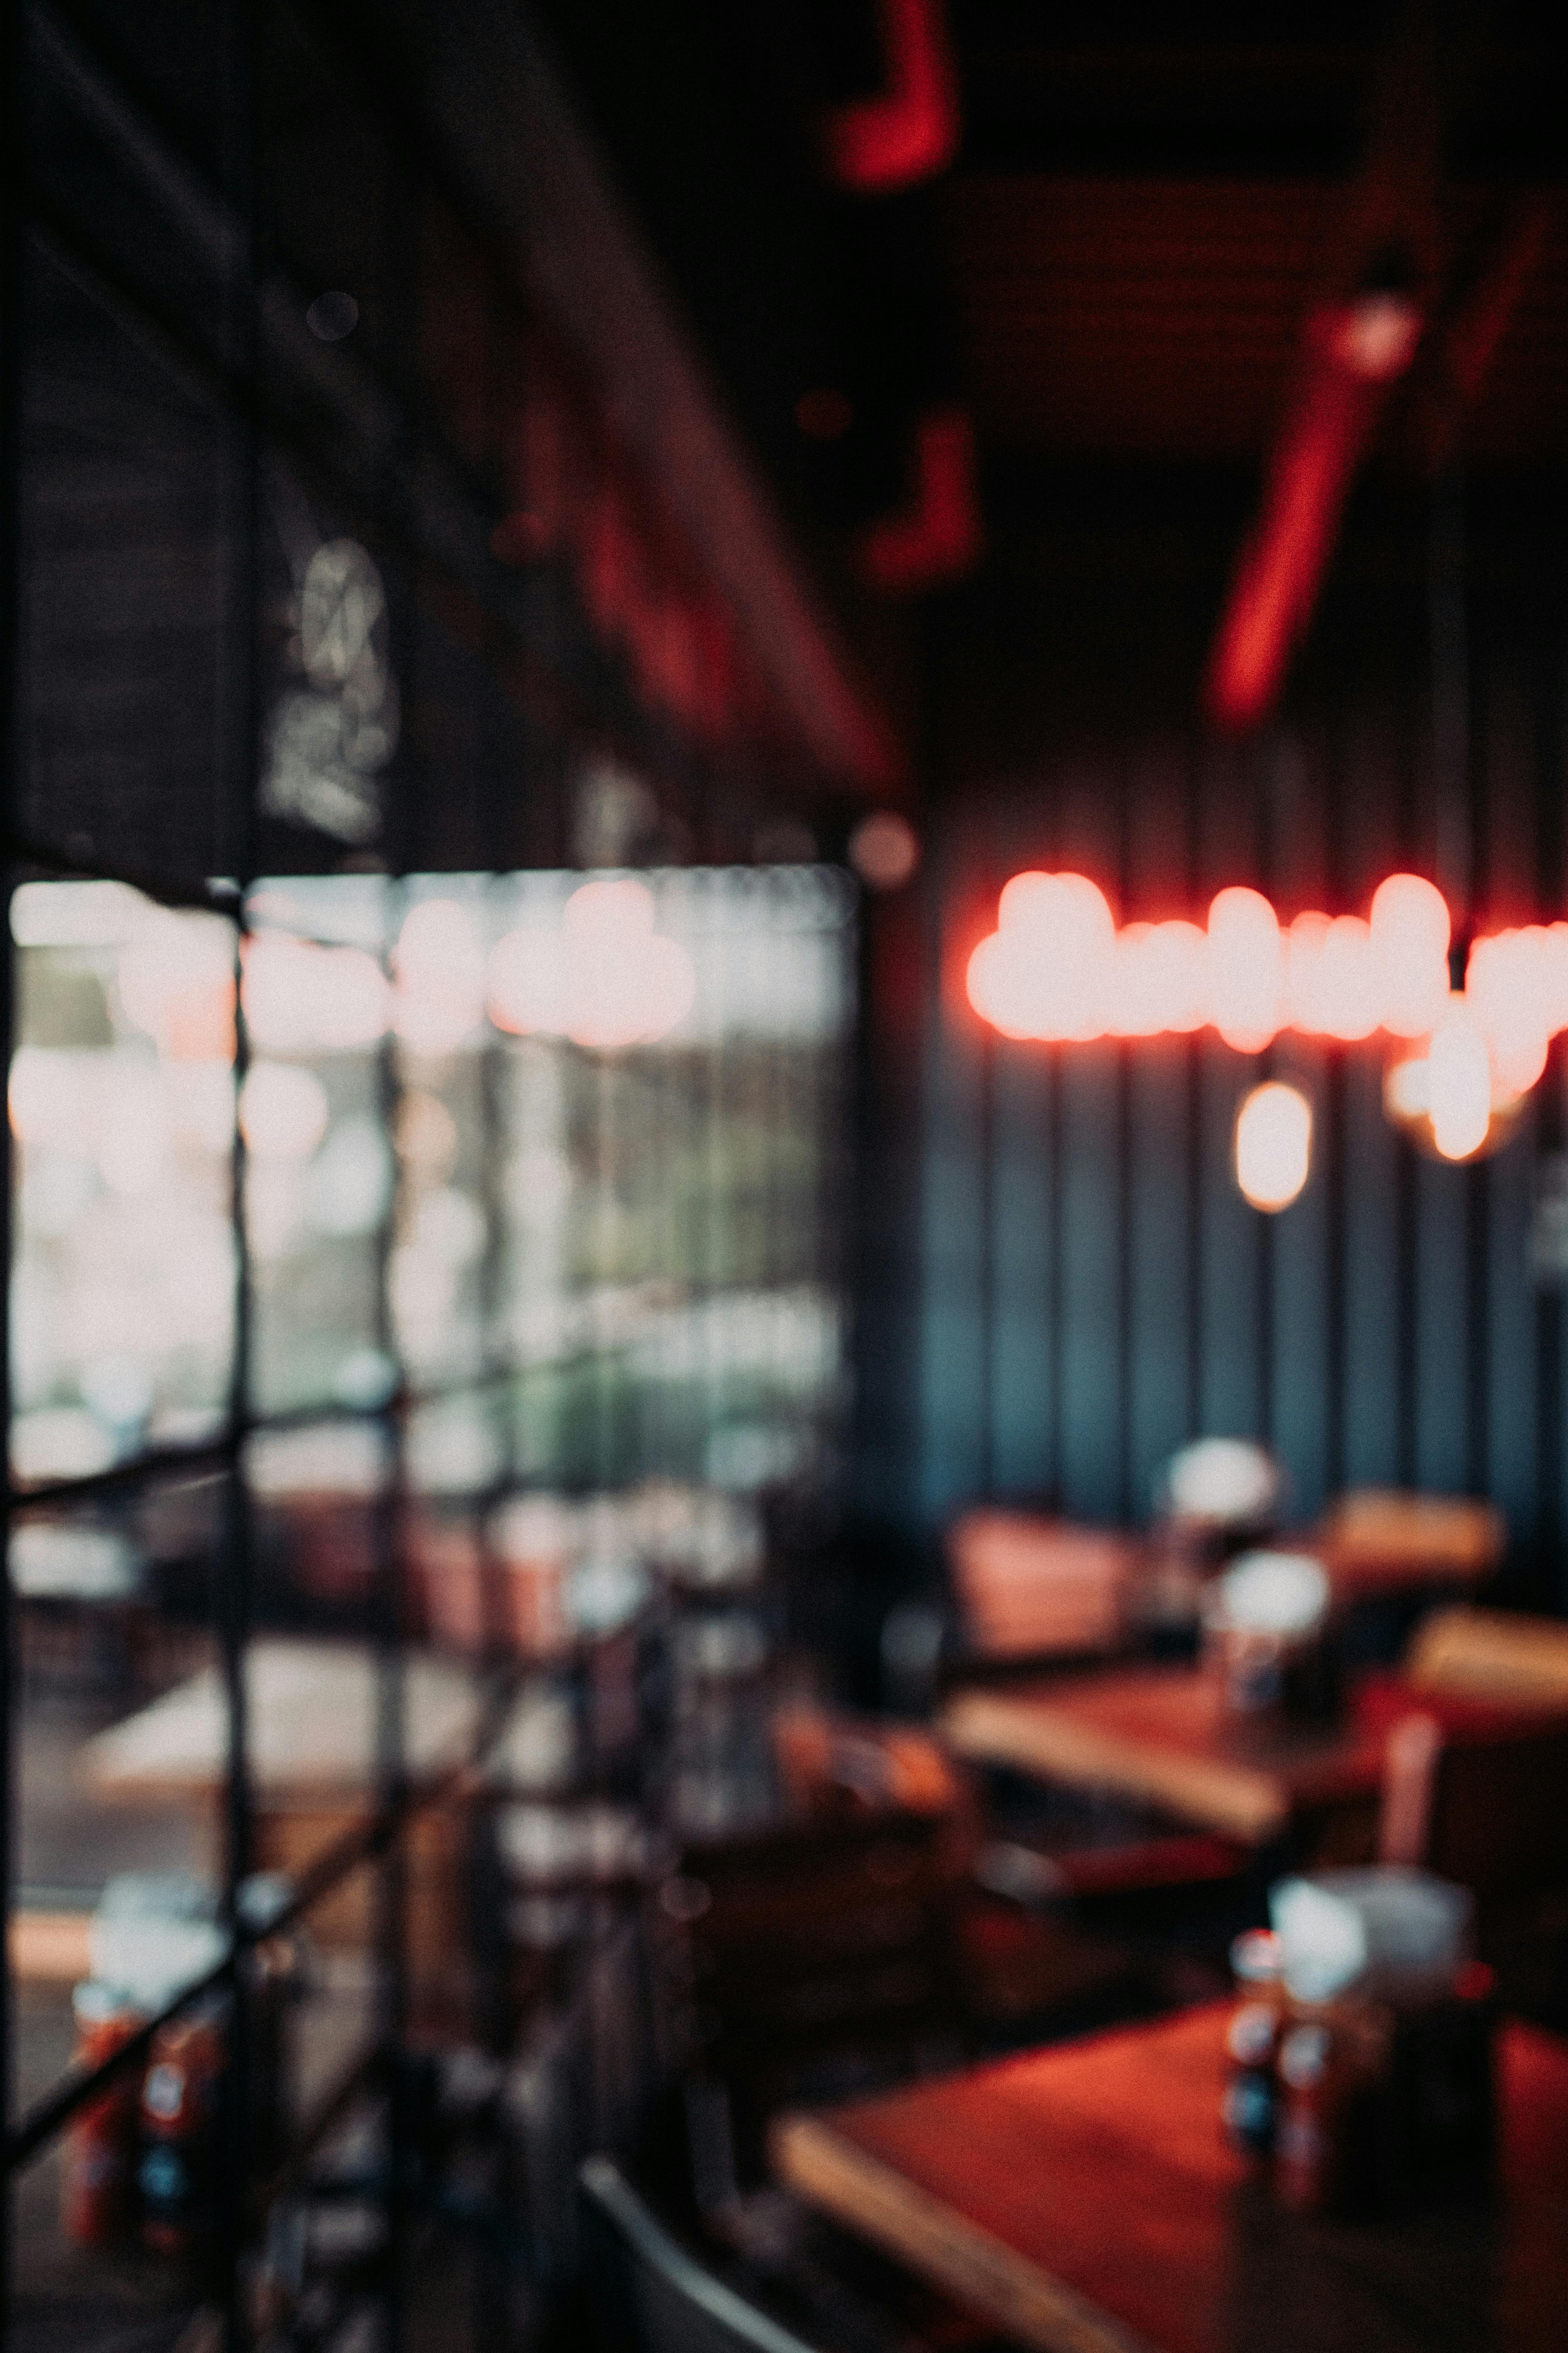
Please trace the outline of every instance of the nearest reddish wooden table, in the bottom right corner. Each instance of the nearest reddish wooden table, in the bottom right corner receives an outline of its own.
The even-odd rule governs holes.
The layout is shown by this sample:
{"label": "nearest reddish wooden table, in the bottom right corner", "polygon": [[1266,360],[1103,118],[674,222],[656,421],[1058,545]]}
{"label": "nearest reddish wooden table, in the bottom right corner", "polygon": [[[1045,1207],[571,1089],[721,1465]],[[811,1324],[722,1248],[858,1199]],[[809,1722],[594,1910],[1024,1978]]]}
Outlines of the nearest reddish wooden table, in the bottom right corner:
{"label": "nearest reddish wooden table, in the bottom right corner", "polygon": [[1568,2042],[1500,2038],[1493,2202],[1274,2207],[1220,2134],[1227,2007],[773,2127],[773,2169],[1041,2353],[1561,2353]]}

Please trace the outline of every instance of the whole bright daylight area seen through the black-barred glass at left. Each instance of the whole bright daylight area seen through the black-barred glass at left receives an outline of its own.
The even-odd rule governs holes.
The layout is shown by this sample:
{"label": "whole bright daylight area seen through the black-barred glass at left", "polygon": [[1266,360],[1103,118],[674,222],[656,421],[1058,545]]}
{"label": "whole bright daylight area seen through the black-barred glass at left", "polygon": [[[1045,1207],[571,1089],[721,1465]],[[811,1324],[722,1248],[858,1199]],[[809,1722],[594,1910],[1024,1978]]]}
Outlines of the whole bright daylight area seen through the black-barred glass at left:
{"label": "whole bright daylight area seen through the black-barred glass at left", "polygon": [[[743,1056],[785,1042],[804,1056],[799,1078],[844,1035],[853,920],[844,878],[449,875],[416,878],[409,892],[400,932],[388,929],[397,887],[376,875],[273,880],[252,894],[242,951],[252,1066],[237,1118],[259,1407],[386,1400],[397,1367],[367,1304],[397,1200],[386,1240],[411,1379],[470,1367],[484,1332],[562,1384],[585,1351],[609,1351],[616,1381],[677,1398],[684,1475],[701,1478],[705,1461],[736,1487],[802,1473],[816,1447],[802,1431],[839,1395],[842,1318],[809,1252],[773,1268],[755,1212],[731,1209],[724,1188],[743,1195],[780,1144],[759,1118],[762,1064],[748,1078]],[[35,958],[28,1019],[47,1012],[24,1028],[9,1085],[14,1457],[28,1475],[56,1475],[205,1435],[226,1398],[235,934],[118,885],[24,885],[14,927]],[[487,1021],[487,991],[498,1021]],[[68,1016],[49,1012],[56,998]],[[395,1153],[378,1075],[388,1028],[402,1064]],[[494,1146],[475,1075],[487,1040],[503,1073]],[[663,1162],[625,1127],[609,1186],[585,1141],[585,1113],[609,1134],[656,1101],[635,1089],[663,1085],[661,1040],[679,1056],[717,1047],[741,1056],[717,1193],[715,1165],[679,1151],[672,1115],[661,1113]],[[607,1061],[585,1066],[571,1045]],[[604,1085],[630,1092],[599,1101]],[[802,1231],[820,1209],[811,1118],[806,1104],[778,1195]],[[703,1297],[705,1238],[719,1231],[738,1238],[724,1242],[733,1264],[724,1261],[719,1294]],[[724,1398],[710,1395],[715,1381]],[[550,1407],[529,1419],[520,1468],[550,1468],[567,1428],[555,1417]],[[719,1426],[729,1435],[715,1438]],[[458,1452],[480,1459],[468,1438]]]}

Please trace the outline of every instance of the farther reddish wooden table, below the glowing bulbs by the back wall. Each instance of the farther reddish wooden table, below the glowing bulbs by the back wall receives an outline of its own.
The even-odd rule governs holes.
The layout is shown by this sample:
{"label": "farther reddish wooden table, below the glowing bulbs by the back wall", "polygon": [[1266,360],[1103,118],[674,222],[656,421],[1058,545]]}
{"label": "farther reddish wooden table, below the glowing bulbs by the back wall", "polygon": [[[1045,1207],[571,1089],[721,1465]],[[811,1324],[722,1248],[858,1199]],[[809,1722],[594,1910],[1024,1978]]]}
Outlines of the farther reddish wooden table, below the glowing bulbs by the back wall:
{"label": "farther reddish wooden table, below the glowing bulbs by the back wall", "polygon": [[1415,1713],[1436,1715],[1450,1739],[1519,1722],[1516,1706],[1371,1673],[1352,1687],[1338,1725],[1258,1732],[1225,1713],[1215,1675],[1133,1666],[957,1692],[940,1727],[976,1765],[1114,1791],[1262,1845],[1305,1812],[1375,1798],[1387,1737]]}

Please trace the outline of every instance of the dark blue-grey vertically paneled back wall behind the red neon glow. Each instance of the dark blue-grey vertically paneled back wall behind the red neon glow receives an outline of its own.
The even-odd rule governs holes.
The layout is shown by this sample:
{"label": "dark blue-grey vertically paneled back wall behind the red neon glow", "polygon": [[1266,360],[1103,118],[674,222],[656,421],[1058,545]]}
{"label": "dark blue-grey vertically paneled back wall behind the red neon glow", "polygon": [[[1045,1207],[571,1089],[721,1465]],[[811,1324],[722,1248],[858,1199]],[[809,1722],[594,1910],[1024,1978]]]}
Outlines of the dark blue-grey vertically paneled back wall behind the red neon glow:
{"label": "dark blue-grey vertically paneled back wall behind the red neon glow", "polygon": [[[1561,1049],[1507,1151],[1450,1169],[1387,1127],[1375,1040],[1006,1045],[961,988],[1023,866],[1093,875],[1119,920],[1201,920],[1225,882],[1284,920],[1363,913],[1396,866],[1479,927],[1568,913],[1561,518],[1467,499],[1460,605],[1436,576],[1434,725],[1429,506],[1375,489],[1281,718],[1234,746],[1194,704],[1239,494],[1016,489],[1030,506],[926,616],[919,906],[872,911],[863,1508],[907,1537],[978,1494],[1140,1520],[1180,1440],[1262,1435],[1302,1513],[1342,1482],[1493,1494],[1521,1591],[1561,1598],[1563,1318],[1528,1257]],[[994,482],[990,508],[1009,513]],[[1276,1219],[1229,1162],[1269,1071],[1316,1113]]]}

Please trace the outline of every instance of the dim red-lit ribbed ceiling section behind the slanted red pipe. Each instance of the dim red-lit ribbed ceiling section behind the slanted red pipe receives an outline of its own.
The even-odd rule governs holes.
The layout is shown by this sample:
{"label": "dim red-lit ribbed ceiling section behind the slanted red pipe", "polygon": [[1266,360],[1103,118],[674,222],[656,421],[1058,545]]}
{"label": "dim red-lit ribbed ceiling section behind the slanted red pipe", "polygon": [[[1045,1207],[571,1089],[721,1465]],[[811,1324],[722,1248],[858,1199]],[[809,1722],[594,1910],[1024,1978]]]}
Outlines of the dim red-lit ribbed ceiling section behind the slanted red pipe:
{"label": "dim red-lit ribbed ceiling section behind the slanted red pipe", "polygon": [[[1328,179],[957,172],[940,254],[985,442],[1063,459],[1255,461],[1342,209]],[[1502,209],[1495,186],[1453,186],[1455,252],[1483,254]],[[1559,207],[1481,381],[1465,454],[1476,466],[1568,459]]]}

